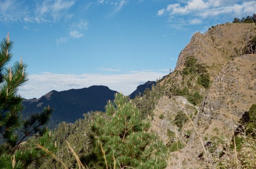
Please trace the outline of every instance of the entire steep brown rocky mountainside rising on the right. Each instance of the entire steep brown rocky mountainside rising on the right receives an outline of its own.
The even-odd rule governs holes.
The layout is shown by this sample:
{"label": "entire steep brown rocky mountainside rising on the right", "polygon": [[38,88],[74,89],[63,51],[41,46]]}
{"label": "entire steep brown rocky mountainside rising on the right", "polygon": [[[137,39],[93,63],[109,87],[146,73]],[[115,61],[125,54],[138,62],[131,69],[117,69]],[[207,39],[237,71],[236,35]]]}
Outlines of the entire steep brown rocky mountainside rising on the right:
{"label": "entire steep brown rocky mountainside rising on the right", "polygon": [[[204,147],[193,125],[205,143],[219,144],[218,137],[230,139],[232,128],[236,129],[244,112],[256,103],[256,54],[243,53],[244,46],[255,35],[256,26],[250,23],[226,23],[213,26],[204,34],[195,33],[180,52],[174,73],[160,82],[164,92],[155,103],[152,129],[166,143],[173,142],[171,135],[177,133],[181,143],[179,152],[177,146],[172,152],[169,168],[178,168],[179,163],[183,168],[197,168],[205,163],[200,160]],[[234,54],[232,60],[230,56]],[[207,69],[204,74],[209,74],[209,87],[198,82],[198,72],[187,71],[191,70],[186,63],[189,58],[195,58],[199,67]],[[192,118],[193,125],[186,120],[177,129],[175,119],[180,111]]]}

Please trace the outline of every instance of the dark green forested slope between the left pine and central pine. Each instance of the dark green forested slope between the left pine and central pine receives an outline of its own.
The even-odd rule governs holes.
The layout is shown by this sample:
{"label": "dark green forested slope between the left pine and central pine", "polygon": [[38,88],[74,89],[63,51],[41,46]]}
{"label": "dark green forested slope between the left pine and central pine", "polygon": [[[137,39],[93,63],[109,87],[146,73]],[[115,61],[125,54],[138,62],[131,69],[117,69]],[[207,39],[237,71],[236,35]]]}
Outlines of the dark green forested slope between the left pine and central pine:
{"label": "dark green forested slope between the left pine and central pine", "polygon": [[[67,149],[68,141],[70,146],[74,149],[74,152],[78,155],[81,162],[86,164],[90,169],[96,169],[96,155],[91,151],[91,120],[96,118],[96,113],[89,112],[89,114],[84,114],[83,119],[76,120],[75,123],[59,123],[58,129],[53,132],[53,143],[56,141],[57,149],[55,150],[55,155],[61,159],[68,168],[78,167],[77,161],[74,155]],[[102,112],[100,112],[102,113]],[[102,115],[105,115],[102,113]],[[85,166],[85,165],[84,165]],[[44,159],[41,169],[62,169],[61,163],[56,161],[54,158],[50,157]]]}

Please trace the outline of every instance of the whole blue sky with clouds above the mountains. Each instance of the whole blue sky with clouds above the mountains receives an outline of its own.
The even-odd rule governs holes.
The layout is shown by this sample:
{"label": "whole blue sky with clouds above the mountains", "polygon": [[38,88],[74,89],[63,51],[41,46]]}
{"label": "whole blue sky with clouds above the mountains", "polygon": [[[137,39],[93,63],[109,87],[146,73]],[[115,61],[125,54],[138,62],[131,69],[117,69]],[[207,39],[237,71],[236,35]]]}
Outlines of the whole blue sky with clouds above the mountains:
{"label": "whole blue sky with clouds above the mountains", "polygon": [[255,11],[256,0],[0,0],[0,33],[12,63],[28,64],[25,98],[91,85],[128,95],[174,69],[195,32]]}

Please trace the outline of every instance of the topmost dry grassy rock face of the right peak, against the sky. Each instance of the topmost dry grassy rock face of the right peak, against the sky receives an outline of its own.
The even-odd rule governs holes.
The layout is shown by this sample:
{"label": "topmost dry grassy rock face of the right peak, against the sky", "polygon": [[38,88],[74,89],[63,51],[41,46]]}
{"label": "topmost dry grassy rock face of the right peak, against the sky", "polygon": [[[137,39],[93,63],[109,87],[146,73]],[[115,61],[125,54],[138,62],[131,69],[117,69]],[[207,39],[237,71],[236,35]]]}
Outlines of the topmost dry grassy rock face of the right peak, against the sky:
{"label": "topmost dry grassy rock face of the right peak, against the sky", "polygon": [[209,66],[208,71],[214,80],[230,60],[233,49],[242,49],[255,32],[256,26],[246,23],[220,24],[204,34],[197,32],[180,52],[175,70],[183,69],[187,56],[195,56],[201,63]]}

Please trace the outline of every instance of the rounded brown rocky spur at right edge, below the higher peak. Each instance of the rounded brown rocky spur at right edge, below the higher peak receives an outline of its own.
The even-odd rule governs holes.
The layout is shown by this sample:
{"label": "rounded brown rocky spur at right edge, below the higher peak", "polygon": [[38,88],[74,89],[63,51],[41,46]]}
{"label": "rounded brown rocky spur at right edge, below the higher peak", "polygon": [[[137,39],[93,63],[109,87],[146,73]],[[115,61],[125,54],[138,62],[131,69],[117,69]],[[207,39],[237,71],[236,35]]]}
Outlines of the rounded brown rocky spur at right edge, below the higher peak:
{"label": "rounded brown rocky spur at right edge, below the higher peak", "polygon": [[231,112],[239,122],[255,100],[256,54],[243,55],[221,69],[202,102],[200,117],[224,120]]}

